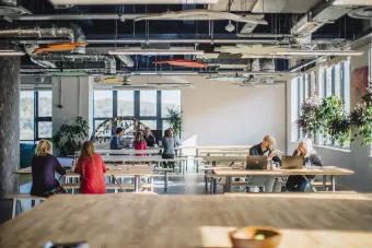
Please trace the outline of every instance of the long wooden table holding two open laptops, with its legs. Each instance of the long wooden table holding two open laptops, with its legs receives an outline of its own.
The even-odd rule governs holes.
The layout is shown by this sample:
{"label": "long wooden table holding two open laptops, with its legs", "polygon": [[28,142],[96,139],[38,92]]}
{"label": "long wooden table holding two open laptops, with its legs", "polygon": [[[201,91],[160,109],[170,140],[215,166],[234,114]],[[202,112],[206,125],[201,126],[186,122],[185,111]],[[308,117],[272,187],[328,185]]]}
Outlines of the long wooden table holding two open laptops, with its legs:
{"label": "long wooden table holding two open laptops, with its legs", "polygon": [[[336,191],[336,178],[335,176],[352,175],[354,172],[338,168],[335,166],[323,167],[323,168],[303,168],[303,169],[213,169],[216,176],[226,177],[226,184],[224,185],[224,192],[231,192],[231,185],[233,177],[246,177],[246,176],[272,176],[272,177],[289,177],[295,175],[315,175],[323,176],[323,188],[326,187],[327,176],[330,177],[332,190]],[[213,179],[212,179],[213,181]],[[211,192],[213,184],[211,184]]]}

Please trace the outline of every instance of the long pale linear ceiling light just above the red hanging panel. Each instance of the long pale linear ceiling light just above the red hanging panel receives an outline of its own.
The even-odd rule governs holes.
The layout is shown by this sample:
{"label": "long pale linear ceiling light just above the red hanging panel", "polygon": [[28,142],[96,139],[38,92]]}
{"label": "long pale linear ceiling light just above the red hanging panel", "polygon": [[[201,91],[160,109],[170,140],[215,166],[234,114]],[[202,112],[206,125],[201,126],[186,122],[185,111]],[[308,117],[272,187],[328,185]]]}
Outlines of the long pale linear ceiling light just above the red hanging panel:
{"label": "long pale linear ceiling light just above the red hanging panel", "polygon": [[108,55],[204,55],[204,50],[168,50],[168,49],[117,49],[117,50],[108,50]]}

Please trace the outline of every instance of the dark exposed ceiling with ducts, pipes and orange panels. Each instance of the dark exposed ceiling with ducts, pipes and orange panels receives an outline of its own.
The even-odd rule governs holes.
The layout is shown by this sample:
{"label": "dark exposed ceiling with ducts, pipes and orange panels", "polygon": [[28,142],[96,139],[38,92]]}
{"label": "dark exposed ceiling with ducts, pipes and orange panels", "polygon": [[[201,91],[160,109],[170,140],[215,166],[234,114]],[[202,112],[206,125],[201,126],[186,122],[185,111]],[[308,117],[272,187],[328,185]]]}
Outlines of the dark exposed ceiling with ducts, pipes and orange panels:
{"label": "dark exposed ceiling with ducts, pipes and orange panels", "polygon": [[340,50],[363,31],[362,2],[0,0],[0,48],[26,54],[23,74],[272,79],[289,59],[358,56]]}

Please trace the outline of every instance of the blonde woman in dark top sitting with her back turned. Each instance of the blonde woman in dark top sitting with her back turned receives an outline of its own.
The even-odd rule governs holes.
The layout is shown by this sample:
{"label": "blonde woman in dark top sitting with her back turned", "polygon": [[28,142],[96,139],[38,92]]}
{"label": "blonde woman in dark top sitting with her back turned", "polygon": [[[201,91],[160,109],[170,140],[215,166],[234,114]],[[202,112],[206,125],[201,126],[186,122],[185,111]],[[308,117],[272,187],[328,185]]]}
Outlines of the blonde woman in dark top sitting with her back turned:
{"label": "blonde woman in dark top sitting with her back turned", "polygon": [[[30,194],[49,197],[54,193],[63,193],[55,172],[65,175],[66,170],[54,155],[51,145],[47,140],[40,140],[36,147],[36,154],[31,158],[33,184]],[[62,192],[58,192],[62,190]]]}

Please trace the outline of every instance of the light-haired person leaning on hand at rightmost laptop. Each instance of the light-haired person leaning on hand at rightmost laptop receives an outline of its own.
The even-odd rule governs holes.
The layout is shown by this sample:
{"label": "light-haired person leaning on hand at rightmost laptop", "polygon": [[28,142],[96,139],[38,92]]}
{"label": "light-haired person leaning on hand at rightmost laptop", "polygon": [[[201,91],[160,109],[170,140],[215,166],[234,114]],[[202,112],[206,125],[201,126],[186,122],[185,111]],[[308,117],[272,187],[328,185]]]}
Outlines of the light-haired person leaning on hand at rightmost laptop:
{"label": "light-haired person leaning on hand at rightmost laptop", "polygon": [[[313,143],[311,139],[304,138],[299,143],[299,146],[293,152],[293,156],[302,156],[303,157],[303,165],[311,164],[312,167],[322,167],[323,162],[319,155],[316,154],[315,150],[313,149]],[[315,176],[289,176],[286,190],[292,192],[305,192],[310,187],[310,181],[313,181]]]}

